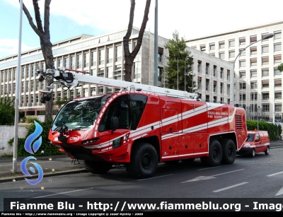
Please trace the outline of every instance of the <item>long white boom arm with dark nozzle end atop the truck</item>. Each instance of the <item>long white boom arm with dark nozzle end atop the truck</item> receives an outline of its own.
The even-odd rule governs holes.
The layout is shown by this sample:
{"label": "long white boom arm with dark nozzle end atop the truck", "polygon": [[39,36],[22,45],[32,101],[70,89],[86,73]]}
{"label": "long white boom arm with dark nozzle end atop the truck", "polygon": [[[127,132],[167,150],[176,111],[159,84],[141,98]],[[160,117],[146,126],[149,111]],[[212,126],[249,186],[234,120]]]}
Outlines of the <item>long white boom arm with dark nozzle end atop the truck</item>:
{"label": "long white boom arm with dark nozzle end atop the truck", "polygon": [[73,69],[47,69],[47,71],[40,71],[37,69],[37,74],[41,74],[38,81],[43,81],[45,78],[54,79],[51,86],[47,86],[50,90],[40,90],[44,95],[50,95],[53,91],[54,84],[59,84],[67,89],[75,88],[79,84],[94,84],[98,86],[108,86],[113,88],[120,88],[121,90],[142,90],[144,92],[158,93],[167,95],[173,98],[189,98],[192,100],[200,100],[197,93],[187,93],[187,91],[173,90],[168,88],[159,88],[156,86],[145,85],[141,83],[134,83],[129,81],[118,81],[111,78],[103,78],[90,76],[85,71],[78,71]]}

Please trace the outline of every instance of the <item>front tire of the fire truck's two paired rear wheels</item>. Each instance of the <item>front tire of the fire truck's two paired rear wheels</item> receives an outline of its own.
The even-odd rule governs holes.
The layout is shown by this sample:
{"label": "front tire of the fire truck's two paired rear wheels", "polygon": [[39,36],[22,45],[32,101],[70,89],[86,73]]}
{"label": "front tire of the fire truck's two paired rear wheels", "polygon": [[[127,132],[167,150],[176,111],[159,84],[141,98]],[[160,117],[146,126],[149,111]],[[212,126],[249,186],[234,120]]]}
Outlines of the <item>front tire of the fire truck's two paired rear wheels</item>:
{"label": "front tire of the fire truck's two paired rear wheels", "polygon": [[220,165],[222,160],[222,148],[219,141],[214,140],[209,144],[209,156],[200,158],[203,165],[215,167]]}

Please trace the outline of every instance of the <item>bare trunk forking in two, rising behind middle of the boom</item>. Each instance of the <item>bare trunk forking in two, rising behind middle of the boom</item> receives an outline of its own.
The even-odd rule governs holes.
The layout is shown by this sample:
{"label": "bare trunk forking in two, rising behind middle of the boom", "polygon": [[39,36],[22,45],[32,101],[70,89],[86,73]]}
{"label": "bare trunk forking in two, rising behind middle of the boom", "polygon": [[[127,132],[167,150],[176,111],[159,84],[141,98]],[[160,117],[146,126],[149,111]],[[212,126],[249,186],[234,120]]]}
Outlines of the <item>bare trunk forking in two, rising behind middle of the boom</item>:
{"label": "bare trunk forking in two, rising behind middle of the boom", "polygon": [[125,53],[125,81],[132,81],[132,65],[134,62],[134,58],[137,56],[139,49],[141,48],[142,38],[144,37],[144,30],[146,28],[147,20],[149,20],[149,7],[151,4],[151,0],[146,0],[146,6],[144,9],[144,19],[141,23],[141,29],[139,30],[139,36],[137,38],[137,45],[134,47],[132,52],[129,51],[129,37],[132,35],[132,25],[134,22],[134,6],[136,2],[135,0],[131,0],[131,8],[129,11],[129,25],[128,30],[123,37],[124,42],[124,53]]}

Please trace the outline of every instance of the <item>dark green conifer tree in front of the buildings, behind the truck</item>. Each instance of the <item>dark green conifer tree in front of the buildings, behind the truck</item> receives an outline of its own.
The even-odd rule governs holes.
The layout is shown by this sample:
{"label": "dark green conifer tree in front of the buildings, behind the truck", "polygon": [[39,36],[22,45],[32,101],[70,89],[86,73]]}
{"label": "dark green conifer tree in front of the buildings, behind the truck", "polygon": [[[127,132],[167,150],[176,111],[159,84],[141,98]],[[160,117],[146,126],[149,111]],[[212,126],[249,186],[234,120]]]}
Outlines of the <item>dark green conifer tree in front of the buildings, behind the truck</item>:
{"label": "dark green conifer tree in front of the buildings, behind the truck", "polygon": [[168,40],[165,45],[169,50],[169,57],[166,57],[167,66],[165,66],[165,86],[177,90],[178,82],[178,90],[192,93],[193,88],[196,87],[195,81],[192,82],[193,59],[186,47],[185,39],[180,38],[178,31],[175,30],[173,39]]}

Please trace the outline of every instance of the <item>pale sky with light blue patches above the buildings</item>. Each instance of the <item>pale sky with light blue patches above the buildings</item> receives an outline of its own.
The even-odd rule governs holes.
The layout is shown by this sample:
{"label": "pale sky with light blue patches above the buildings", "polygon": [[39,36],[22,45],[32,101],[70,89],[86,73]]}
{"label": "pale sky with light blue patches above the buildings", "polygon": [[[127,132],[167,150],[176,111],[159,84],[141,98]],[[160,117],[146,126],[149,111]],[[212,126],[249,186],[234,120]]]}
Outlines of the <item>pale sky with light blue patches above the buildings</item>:
{"label": "pale sky with light blue patches above the buildings", "polygon": [[[156,1],[158,2],[158,35],[192,39],[226,31],[249,28],[283,20],[282,0],[151,0],[146,30],[155,31]],[[23,4],[34,18],[33,1]],[[38,0],[44,24],[44,0]],[[136,0],[134,26],[140,28],[146,0]],[[129,0],[53,0],[50,4],[51,42],[78,35],[103,35],[127,28]],[[19,0],[0,0],[0,59],[18,54],[20,33]],[[40,47],[39,37],[22,13],[21,52]]]}

